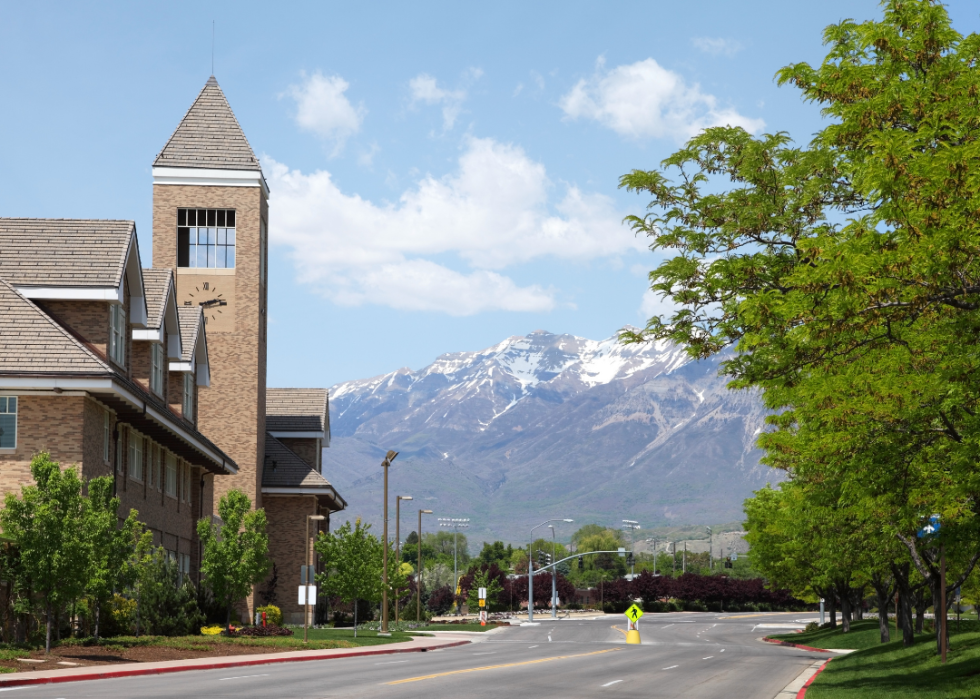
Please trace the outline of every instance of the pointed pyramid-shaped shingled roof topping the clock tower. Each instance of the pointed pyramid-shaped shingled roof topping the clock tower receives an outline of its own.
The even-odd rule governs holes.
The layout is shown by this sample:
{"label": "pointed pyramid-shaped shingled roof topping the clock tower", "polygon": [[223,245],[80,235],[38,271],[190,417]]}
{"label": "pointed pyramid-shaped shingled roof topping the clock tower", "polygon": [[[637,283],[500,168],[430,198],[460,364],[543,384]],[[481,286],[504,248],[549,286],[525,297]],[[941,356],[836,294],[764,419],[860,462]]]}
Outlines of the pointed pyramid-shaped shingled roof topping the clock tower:
{"label": "pointed pyramid-shaped shingled roof topping the clock tower", "polygon": [[262,171],[213,75],[153,161],[153,167]]}

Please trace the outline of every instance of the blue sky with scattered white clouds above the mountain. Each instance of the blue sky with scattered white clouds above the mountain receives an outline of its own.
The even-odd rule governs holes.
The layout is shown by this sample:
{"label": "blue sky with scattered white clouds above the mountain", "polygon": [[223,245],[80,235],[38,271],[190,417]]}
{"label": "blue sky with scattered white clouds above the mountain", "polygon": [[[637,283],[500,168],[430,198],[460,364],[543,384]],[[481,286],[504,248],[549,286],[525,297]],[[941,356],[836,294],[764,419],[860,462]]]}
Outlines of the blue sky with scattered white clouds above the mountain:
{"label": "blue sky with scattered white clouds above the mountain", "polygon": [[[791,10],[787,10],[791,7]],[[978,29],[974,2],[950,3]],[[642,324],[619,177],[697,128],[807,140],[774,73],[876,2],[4,3],[0,214],[135,219],[211,72],[272,187],[270,385]]]}

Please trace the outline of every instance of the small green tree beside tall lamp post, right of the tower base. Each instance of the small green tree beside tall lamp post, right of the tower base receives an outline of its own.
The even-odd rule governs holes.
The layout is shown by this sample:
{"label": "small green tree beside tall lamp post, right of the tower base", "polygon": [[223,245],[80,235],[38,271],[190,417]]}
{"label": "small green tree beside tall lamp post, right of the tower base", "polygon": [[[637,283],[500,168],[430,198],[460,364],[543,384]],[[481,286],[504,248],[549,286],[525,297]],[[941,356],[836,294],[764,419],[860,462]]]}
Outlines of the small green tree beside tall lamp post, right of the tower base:
{"label": "small green tree beside tall lamp post, right of the tower base", "polygon": [[[355,637],[358,600],[381,600],[381,542],[370,529],[370,524],[362,524],[358,518],[354,526],[345,522],[332,532],[320,532],[313,544],[323,564],[323,572],[316,575],[319,593],[353,603]],[[396,565],[389,562],[392,567]]]}

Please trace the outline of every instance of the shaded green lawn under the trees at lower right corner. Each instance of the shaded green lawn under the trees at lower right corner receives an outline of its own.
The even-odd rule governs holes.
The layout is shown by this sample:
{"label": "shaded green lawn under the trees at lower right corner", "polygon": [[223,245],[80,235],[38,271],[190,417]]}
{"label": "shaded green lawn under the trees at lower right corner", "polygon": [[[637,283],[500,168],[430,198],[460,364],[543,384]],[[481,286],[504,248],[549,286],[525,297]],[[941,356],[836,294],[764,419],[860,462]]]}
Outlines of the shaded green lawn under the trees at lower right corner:
{"label": "shaded green lawn under the trees at lower right corner", "polygon": [[[878,643],[878,622],[852,625],[841,634],[821,630],[810,634],[778,636],[818,648],[859,648],[834,658],[807,690],[807,699],[972,699],[980,696],[980,624],[962,622],[957,632],[950,620],[949,657],[939,662],[935,637],[916,636],[915,645],[903,648],[892,626],[890,643]],[[773,636],[777,638],[777,636]],[[869,641],[872,641],[869,644]]]}

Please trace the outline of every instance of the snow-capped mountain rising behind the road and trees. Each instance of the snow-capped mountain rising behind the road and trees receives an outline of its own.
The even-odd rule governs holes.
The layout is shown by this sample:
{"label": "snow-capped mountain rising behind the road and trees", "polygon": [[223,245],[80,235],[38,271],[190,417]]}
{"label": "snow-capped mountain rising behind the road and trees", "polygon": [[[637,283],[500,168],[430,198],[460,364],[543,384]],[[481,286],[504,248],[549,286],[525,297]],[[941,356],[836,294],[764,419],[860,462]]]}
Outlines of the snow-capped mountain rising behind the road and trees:
{"label": "snow-capped mountain rising behind the road and trees", "polygon": [[325,474],[345,515],[379,521],[379,463],[394,449],[391,496],[469,516],[476,539],[522,541],[550,517],[731,521],[780,477],[754,448],[761,404],[727,390],[717,368],[666,342],[540,330],[444,354],[330,389]]}

